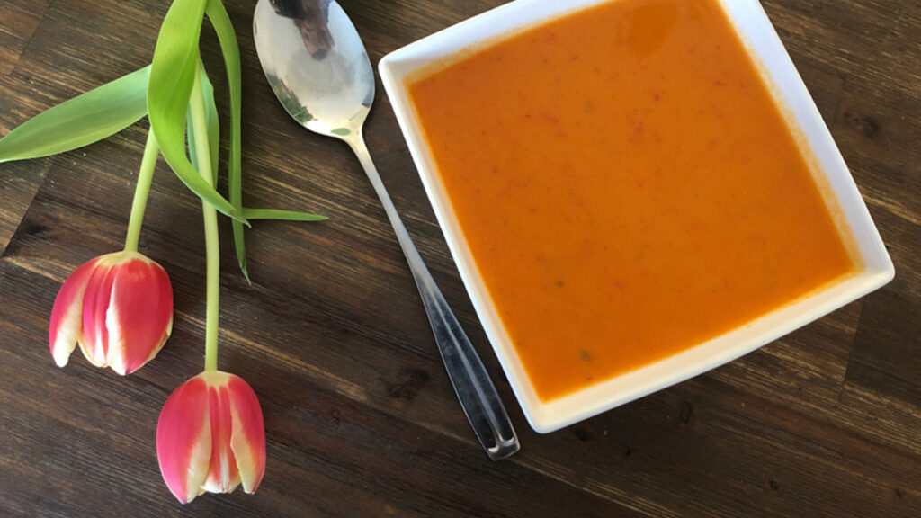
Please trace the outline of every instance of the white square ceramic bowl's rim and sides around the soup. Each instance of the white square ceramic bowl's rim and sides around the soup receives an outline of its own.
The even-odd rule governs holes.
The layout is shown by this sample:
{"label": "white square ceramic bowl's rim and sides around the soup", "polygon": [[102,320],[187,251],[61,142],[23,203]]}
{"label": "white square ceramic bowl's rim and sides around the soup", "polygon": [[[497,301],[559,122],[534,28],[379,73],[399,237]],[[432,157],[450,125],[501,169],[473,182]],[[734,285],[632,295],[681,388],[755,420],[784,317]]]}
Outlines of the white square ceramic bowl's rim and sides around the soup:
{"label": "white square ceramic bowl's rim and sides around the soup", "polygon": [[880,288],[892,280],[894,275],[892,261],[873,225],[867,206],[857,192],[857,185],[761,4],[758,0],[719,0],[750,55],[760,65],[775,100],[785,108],[788,124],[793,126],[795,133],[802,135],[800,145],[814,156],[821,176],[817,180],[826,203],[832,207],[842,230],[850,233],[850,239],[845,241],[854,244],[851,248],[854,249],[852,253],[858,256],[857,275],[822,288],[806,298],[679,354],[559,399],[542,402],[530,384],[484,286],[483,278],[473,262],[470,248],[464,240],[426,144],[426,137],[416,118],[405,81],[428,65],[449,60],[461,50],[484,41],[493,41],[503,34],[557,18],[567,12],[608,1],[629,0],[516,0],[415,41],[384,56],[379,63],[384,88],[473,307],[525,417],[534,430],[542,433],[590,418],[739,358]]}

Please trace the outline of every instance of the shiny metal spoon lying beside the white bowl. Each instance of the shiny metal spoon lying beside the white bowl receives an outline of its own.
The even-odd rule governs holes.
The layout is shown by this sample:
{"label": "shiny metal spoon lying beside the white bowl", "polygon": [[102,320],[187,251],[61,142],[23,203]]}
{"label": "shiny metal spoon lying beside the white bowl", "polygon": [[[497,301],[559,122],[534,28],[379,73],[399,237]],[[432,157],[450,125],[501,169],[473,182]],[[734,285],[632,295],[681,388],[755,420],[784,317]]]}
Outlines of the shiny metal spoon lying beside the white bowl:
{"label": "shiny metal spoon lying beside the white bowl", "polygon": [[519,441],[499,394],[428,273],[367,152],[362,125],[374,100],[374,72],[355,26],[333,0],[259,0],[252,23],[262,70],[282,105],[314,133],[344,140],[374,185],[413,271],[435,341],[461,406],[493,460]]}

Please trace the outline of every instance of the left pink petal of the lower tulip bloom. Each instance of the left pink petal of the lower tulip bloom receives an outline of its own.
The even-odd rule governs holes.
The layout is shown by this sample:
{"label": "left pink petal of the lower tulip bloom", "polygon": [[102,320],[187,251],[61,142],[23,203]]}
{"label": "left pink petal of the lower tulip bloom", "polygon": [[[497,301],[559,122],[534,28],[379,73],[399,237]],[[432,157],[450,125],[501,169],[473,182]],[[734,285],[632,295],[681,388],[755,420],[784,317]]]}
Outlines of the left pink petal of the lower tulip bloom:
{"label": "left pink petal of the lower tulip bloom", "polygon": [[208,384],[196,376],[167,398],[157,421],[157,460],[172,494],[188,503],[202,493],[211,457]]}

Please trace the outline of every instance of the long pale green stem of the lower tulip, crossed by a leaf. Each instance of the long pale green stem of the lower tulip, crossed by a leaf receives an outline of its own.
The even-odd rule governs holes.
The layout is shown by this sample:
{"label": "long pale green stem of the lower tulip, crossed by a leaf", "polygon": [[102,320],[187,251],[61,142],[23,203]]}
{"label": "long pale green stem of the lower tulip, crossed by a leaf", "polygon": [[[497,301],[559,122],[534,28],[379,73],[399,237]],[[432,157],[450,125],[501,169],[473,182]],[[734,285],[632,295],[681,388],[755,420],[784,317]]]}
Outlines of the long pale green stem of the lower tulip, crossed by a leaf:
{"label": "long pale green stem of the lower tulip, crossed by a leaf", "polygon": [[[192,138],[195,139],[195,156],[198,159],[198,173],[205,182],[214,186],[214,174],[211,166],[211,150],[208,148],[208,126],[204,120],[204,93],[202,90],[202,64],[199,61],[195,69],[195,81],[192,83],[192,98],[189,100],[192,113]],[[220,299],[221,251],[217,236],[217,211],[214,206],[202,202],[204,214],[204,248],[207,262],[206,291],[207,301],[204,321],[204,370],[217,370],[217,319]]]}

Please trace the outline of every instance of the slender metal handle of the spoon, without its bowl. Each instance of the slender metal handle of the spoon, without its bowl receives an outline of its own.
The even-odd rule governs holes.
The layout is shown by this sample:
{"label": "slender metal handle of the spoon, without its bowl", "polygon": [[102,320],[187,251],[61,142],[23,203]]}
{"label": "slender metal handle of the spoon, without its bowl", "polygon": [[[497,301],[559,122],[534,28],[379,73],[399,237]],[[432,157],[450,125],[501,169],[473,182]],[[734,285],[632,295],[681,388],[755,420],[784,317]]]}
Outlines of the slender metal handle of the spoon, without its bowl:
{"label": "slender metal handle of the spoon, without its bowl", "polygon": [[489,379],[489,374],[480,357],[477,356],[476,350],[473,349],[470,339],[461,329],[461,324],[451,312],[448,302],[445,301],[432,275],[428,273],[422,256],[419,255],[413,240],[410,239],[409,233],[403,226],[402,219],[397,214],[396,207],[393,206],[391,196],[387,194],[387,189],[380,181],[371,155],[367,152],[364,137],[357,133],[344,140],[352,147],[361,161],[362,167],[367,172],[367,178],[377,191],[380,203],[391,220],[393,230],[396,231],[403,254],[406,255],[406,261],[413,272],[415,285],[419,288],[419,294],[426,307],[428,321],[432,324],[441,359],[445,362],[448,377],[451,384],[454,385],[458,399],[461,400],[464,413],[470,419],[476,437],[483,444],[489,458],[494,461],[518,452],[518,437],[515,435],[515,429],[512,428],[506,408],[502,405],[499,394],[495,392],[495,386]]}

